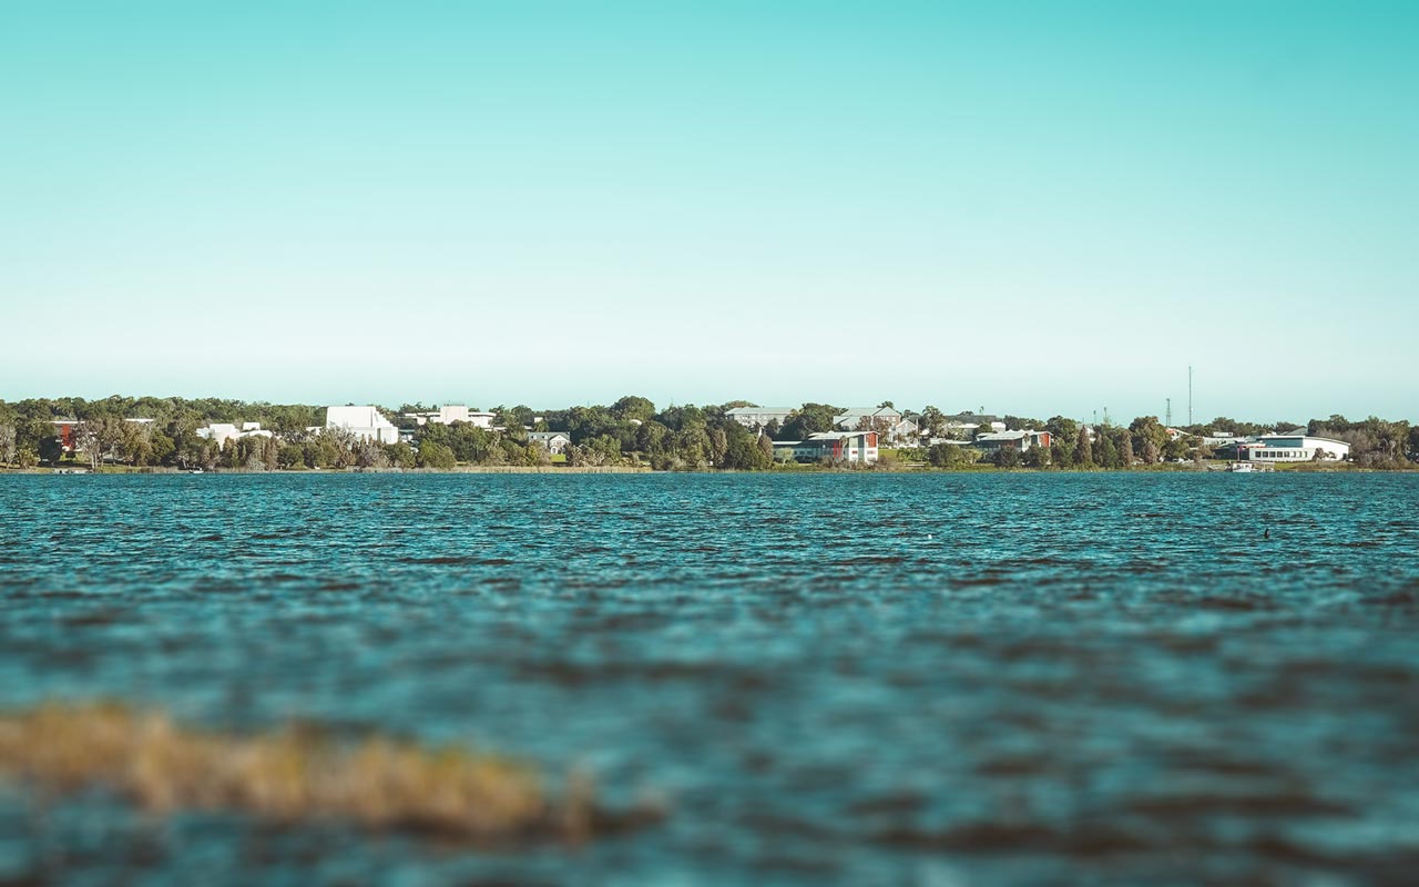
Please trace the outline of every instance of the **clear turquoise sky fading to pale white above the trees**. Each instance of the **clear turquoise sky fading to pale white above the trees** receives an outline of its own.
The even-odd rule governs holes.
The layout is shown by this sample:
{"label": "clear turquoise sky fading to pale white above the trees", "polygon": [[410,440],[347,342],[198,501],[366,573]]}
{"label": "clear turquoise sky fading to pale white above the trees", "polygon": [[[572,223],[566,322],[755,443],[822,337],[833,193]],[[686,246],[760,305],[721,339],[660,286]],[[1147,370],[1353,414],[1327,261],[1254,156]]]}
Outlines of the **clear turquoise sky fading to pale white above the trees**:
{"label": "clear turquoise sky fading to pale white above the trees", "polygon": [[0,399],[1419,419],[1419,4],[14,0]]}

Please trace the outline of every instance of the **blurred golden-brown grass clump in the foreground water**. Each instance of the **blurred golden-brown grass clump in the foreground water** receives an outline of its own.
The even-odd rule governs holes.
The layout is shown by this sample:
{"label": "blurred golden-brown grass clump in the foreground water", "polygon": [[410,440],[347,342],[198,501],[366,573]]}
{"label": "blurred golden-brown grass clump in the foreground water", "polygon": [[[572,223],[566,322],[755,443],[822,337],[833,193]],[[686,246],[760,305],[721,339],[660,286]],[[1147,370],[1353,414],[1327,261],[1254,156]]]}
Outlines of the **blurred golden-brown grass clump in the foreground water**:
{"label": "blurred golden-brown grass clump in the foreground water", "polygon": [[115,790],[152,810],[224,809],[282,822],[349,819],[467,840],[580,839],[590,790],[553,796],[526,766],[467,749],[309,728],[265,735],[186,729],[116,704],[0,712],[0,775],[41,792]]}

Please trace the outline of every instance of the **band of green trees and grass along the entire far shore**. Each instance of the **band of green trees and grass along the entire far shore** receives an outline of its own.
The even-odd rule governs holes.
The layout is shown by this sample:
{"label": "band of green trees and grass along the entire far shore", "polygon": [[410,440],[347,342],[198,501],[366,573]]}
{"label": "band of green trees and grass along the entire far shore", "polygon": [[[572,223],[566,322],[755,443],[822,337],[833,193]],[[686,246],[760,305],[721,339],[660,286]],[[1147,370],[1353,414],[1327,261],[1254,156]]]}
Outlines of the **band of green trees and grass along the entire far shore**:
{"label": "band of green trees and grass along the entire far shore", "polygon": [[[738,422],[731,410],[744,400],[711,406],[657,409],[646,397],[626,396],[610,406],[534,410],[497,406],[482,422],[416,420],[431,414],[421,403],[373,407],[399,429],[397,443],[360,437],[350,429],[325,427],[326,407],[223,399],[79,397],[0,400],[0,470],[44,473],[176,471],[441,471],[441,473],[646,473],[646,471],[1137,471],[1208,470],[1225,465],[1216,436],[1297,433],[1340,440],[1345,461],[1317,458],[1276,463],[1279,471],[1355,471],[1419,468],[1419,426],[1368,417],[1349,422],[1332,414],[1308,423],[1253,423],[1216,417],[1209,423],[1168,427],[1156,416],[1097,424],[1064,416],[1049,420],[972,413],[948,416],[927,406],[920,413],[891,410],[910,431],[867,414],[851,427],[836,423],[843,407],[803,403],[782,422]],[[883,402],[881,407],[893,407]],[[468,410],[464,409],[467,416]],[[979,426],[962,424],[975,417]],[[990,422],[993,420],[993,426]],[[221,443],[211,426],[258,430]],[[986,450],[978,430],[1047,431],[1049,446]],[[563,440],[546,441],[549,433]],[[885,446],[876,464],[820,458],[796,461],[789,441],[829,431],[876,431]],[[1226,437],[1223,437],[1226,439]],[[890,441],[890,443],[888,443]],[[1320,456],[1320,454],[1318,454]]]}

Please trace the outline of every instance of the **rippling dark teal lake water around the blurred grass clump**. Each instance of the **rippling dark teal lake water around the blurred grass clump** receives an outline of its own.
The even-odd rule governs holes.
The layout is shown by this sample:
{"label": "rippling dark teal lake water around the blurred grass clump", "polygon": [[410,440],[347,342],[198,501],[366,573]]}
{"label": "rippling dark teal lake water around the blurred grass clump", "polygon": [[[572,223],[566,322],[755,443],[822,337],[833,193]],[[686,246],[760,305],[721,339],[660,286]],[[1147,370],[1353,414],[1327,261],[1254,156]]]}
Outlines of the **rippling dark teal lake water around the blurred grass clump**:
{"label": "rippling dark teal lake water around the blurred grass clump", "polygon": [[26,475],[0,535],[0,705],[470,742],[668,809],[470,850],[0,789],[0,883],[1419,871],[1419,477]]}

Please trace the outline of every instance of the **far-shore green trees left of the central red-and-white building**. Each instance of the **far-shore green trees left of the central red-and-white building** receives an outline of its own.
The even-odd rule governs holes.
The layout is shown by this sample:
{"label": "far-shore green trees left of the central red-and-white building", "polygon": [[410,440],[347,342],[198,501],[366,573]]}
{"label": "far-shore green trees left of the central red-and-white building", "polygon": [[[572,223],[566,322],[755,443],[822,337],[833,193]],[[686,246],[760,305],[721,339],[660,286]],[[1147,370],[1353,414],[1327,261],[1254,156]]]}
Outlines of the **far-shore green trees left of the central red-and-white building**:
{"label": "far-shore green trees left of the central red-and-white building", "polygon": [[[105,463],[176,468],[298,470],[346,467],[541,465],[552,461],[546,447],[528,439],[532,430],[565,431],[572,465],[648,465],[660,470],[761,470],[773,464],[768,439],[749,431],[725,410],[746,406],[671,406],[657,410],[646,397],[627,396],[610,406],[575,406],[535,413],[531,407],[494,407],[501,430],[468,423],[409,427],[413,446],[379,444],[324,426],[325,407],[244,403],[180,397],[78,397],[0,402],[0,464],[31,467],[82,458]],[[380,407],[400,423],[404,412]],[[54,420],[78,420],[75,451],[65,453]],[[128,419],[152,419],[132,423]],[[217,446],[197,436],[210,423],[260,422],[272,437],[247,436]],[[830,420],[829,426],[830,427]],[[826,430],[826,429],[824,429]]]}

